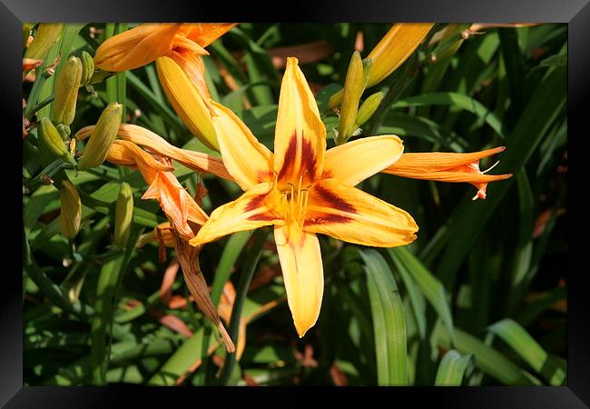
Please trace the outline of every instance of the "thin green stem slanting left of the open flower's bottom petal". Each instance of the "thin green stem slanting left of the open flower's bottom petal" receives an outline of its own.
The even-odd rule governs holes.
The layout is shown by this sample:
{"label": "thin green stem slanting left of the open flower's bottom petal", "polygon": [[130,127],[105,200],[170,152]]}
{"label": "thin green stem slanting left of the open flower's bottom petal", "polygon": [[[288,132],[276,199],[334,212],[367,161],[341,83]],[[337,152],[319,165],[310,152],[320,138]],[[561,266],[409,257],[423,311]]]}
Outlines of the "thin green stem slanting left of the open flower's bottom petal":
{"label": "thin green stem slanting left of the open flower's bottom petal", "polygon": [[[252,244],[250,252],[248,253],[248,258],[245,261],[244,269],[241,272],[240,282],[238,283],[238,288],[236,291],[236,298],[233,302],[233,308],[231,310],[231,320],[228,331],[233,344],[238,344],[241,310],[243,308],[244,301],[246,300],[246,294],[248,293],[248,287],[250,287],[252,276],[256,270],[256,265],[261,258],[262,246],[264,245],[264,242],[266,242],[266,237],[268,234],[269,232],[266,229],[258,229],[254,234],[252,234],[254,243]],[[225,364],[223,364],[223,369],[221,370],[221,384],[228,384],[235,361],[236,354],[226,355]]]}

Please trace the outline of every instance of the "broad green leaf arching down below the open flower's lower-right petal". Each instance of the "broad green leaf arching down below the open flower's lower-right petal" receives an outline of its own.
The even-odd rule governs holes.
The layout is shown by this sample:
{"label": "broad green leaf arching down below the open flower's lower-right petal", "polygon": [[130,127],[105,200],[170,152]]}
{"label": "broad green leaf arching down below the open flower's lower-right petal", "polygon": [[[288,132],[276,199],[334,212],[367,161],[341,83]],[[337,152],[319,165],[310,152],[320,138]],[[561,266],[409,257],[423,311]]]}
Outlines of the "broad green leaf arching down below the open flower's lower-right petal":
{"label": "broad green leaf arching down below the open flower's lower-right petal", "polygon": [[385,259],[375,250],[360,251],[367,272],[367,286],[379,385],[408,384],[404,304]]}

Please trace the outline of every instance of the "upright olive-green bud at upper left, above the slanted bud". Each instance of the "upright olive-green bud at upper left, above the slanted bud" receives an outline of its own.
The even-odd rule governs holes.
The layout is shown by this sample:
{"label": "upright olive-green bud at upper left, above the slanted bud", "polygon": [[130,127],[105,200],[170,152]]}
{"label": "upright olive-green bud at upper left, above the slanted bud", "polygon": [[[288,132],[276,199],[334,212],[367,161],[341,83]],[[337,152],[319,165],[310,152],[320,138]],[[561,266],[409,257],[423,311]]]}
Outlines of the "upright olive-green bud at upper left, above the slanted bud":
{"label": "upright olive-green bud at upper left, above the slanted bud", "polygon": [[71,56],[55,79],[55,100],[52,105],[55,123],[71,125],[74,122],[81,79],[82,61]]}

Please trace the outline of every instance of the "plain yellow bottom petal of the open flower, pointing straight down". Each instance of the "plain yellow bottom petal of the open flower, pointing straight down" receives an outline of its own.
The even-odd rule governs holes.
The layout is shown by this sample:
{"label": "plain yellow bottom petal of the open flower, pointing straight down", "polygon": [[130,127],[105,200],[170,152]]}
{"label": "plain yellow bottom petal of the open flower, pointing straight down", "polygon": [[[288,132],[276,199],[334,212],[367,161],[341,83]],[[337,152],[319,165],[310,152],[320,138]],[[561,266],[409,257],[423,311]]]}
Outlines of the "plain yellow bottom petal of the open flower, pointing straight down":
{"label": "plain yellow bottom petal of the open flower, pointing straight down", "polygon": [[324,293],[320,242],[315,234],[302,232],[297,225],[275,227],[274,238],[287,302],[297,334],[302,337],[320,315]]}

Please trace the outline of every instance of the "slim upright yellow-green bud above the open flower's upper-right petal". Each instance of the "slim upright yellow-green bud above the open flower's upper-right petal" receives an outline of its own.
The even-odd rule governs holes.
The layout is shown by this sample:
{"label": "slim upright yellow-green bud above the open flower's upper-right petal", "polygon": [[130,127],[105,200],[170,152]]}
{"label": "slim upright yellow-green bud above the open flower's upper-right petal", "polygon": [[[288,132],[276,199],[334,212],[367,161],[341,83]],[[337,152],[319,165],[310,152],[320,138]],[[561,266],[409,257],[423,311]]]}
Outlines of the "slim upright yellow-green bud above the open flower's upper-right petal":
{"label": "slim upright yellow-green bud above the open flower's upper-right petal", "polygon": [[348,137],[356,129],[354,127],[359,109],[360,95],[365,90],[365,75],[360,54],[355,51],[350,58],[349,71],[344,81],[344,94],[340,105],[340,117],[338,126],[339,143],[346,142]]}

